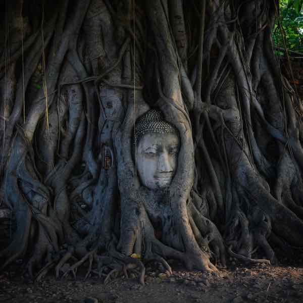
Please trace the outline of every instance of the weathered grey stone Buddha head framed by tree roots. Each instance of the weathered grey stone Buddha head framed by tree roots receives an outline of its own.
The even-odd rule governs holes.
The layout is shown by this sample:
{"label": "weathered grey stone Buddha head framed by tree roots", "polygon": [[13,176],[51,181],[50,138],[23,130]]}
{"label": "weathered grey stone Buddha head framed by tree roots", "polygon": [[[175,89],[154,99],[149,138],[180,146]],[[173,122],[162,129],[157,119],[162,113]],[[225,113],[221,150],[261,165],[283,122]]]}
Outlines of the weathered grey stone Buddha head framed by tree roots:
{"label": "weathered grey stone Buddha head framed by tree roots", "polygon": [[151,109],[135,124],[136,166],[142,184],[149,189],[170,185],[178,164],[178,130]]}

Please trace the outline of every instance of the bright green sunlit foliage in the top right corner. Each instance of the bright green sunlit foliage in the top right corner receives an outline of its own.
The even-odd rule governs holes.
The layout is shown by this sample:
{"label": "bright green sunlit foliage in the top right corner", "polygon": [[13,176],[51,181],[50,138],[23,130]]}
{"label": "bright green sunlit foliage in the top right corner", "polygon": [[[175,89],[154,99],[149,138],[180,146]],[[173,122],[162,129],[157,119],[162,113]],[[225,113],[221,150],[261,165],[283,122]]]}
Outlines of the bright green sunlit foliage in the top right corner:
{"label": "bright green sunlit foliage in the top right corner", "polygon": [[[285,34],[286,47],[303,53],[303,0],[280,0],[280,22]],[[274,30],[275,45],[284,48],[278,20]]]}

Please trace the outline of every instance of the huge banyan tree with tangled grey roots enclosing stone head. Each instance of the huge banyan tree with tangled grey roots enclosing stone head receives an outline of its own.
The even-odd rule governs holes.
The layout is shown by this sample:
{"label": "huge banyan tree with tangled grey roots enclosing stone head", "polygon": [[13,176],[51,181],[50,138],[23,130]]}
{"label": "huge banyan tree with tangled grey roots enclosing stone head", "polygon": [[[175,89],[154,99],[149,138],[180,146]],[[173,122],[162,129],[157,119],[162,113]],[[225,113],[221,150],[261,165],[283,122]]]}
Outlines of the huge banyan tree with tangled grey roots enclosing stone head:
{"label": "huge banyan tree with tangled grey roots enclosing stone head", "polygon": [[[4,1],[2,268],[215,271],[303,247],[277,0]],[[262,259],[260,259],[262,258]]]}

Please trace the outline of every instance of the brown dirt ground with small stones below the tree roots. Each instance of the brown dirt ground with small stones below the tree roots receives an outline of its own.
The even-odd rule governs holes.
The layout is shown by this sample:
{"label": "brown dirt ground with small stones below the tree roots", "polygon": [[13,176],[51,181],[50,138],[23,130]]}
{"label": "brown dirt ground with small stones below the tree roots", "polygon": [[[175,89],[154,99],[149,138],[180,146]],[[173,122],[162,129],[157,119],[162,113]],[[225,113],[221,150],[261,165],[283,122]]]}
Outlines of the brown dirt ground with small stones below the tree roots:
{"label": "brown dirt ground with small stones below the tree roots", "polygon": [[[301,261],[301,260],[300,260]],[[276,266],[244,266],[234,259],[218,273],[188,272],[172,264],[173,275],[161,268],[146,271],[145,285],[135,273],[119,276],[104,285],[91,276],[86,281],[56,280],[49,275],[33,283],[15,272],[0,274],[0,302],[81,302],[81,303],[194,303],[194,302],[303,302],[303,263]]]}

